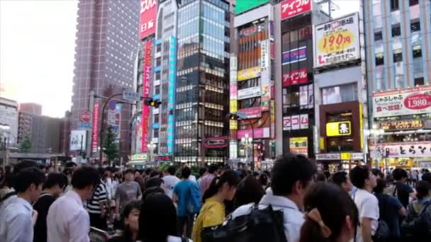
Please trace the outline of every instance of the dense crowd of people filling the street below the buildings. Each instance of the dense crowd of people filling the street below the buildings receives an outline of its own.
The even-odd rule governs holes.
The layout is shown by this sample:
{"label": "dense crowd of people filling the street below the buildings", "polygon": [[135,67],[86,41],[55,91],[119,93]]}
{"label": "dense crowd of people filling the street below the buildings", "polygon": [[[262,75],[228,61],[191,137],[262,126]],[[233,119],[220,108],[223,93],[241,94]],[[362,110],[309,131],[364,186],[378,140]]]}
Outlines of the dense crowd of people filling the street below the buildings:
{"label": "dense crowd of people filling the street below the buildings", "polygon": [[187,166],[119,171],[67,163],[60,172],[21,161],[1,174],[0,241],[85,242],[92,228],[111,242],[207,242],[226,228],[237,231],[224,233],[225,242],[247,233],[258,241],[272,237],[229,226],[269,210],[282,211],[279,224],[274,217],[277,241],[429,241],[430,184],[431,173],[410,181],[401,168],[386,176],[367,166],[318,173],[301,155],[277,159],[271,172],[211,165],[198,179]]}

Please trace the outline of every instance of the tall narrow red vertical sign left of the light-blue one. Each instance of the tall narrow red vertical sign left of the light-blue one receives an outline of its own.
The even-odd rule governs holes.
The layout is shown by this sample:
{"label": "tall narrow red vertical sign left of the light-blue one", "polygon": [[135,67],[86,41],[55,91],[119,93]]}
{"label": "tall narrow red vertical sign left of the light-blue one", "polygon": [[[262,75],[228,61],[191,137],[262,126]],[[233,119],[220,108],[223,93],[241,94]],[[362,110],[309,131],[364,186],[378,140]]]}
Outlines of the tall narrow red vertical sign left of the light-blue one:
{"label": "tall narrow red vertical sign left of the light-blue one", "polygon": [[[150,97],[150,81],[151,81],[151,57],[152,57],[152,42],[144,42],[144,64],[142,72],[142,97]],[[141,139],[141,151],[147,153],[148,143],[148,117],[150,117],[150,108],[142,103],[142,139]]]}

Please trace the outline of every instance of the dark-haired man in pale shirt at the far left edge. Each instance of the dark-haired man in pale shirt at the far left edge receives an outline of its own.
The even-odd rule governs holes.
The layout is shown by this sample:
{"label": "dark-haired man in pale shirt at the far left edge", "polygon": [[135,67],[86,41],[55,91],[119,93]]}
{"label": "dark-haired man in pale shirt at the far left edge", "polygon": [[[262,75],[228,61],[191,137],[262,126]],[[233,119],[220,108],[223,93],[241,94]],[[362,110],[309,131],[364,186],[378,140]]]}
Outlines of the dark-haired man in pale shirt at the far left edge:
{"label": "dark-haired man in pale shirt at the far left edge", "polygon": [[16,198],[0,214],[0,241],[33,242],[33,225],[38,212],[31,204],[38,200],[45,173],[39,168],[24,168],[16,175]]}

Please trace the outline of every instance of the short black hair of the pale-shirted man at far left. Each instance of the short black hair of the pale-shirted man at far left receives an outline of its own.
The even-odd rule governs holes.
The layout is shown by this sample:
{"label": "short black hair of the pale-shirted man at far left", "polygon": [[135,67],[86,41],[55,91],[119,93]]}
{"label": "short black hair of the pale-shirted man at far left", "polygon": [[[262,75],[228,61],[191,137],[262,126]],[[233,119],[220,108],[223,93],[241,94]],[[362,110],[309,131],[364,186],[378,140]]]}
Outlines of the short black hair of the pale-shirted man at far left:
{"label": "short black hair of the pale-shirted man at far left", "polygon": [[31,184],[34,184],[36,187],[45,182],[45,173],[40,171],[39,168],[30,167],[23,168],[16,175],[15,183],[13,184],[13,189],[16,192],[25,192]]}

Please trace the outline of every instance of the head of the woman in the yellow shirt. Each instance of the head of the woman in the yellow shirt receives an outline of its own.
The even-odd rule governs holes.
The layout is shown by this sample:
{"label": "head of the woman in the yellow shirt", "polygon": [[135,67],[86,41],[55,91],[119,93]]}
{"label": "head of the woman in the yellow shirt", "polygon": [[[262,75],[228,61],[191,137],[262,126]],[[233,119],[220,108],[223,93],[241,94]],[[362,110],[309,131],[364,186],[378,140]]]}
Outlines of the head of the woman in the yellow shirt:
{"label": "head of the woman in the yellow shirt", "polygon": [[240,177],[235,171],[225,171],[223,175],[213,179],[209,188],[203,193],[202,201],[205,202],[205,200],[217,194],[223,197],[223,200],[233,200],[239,183]]}

